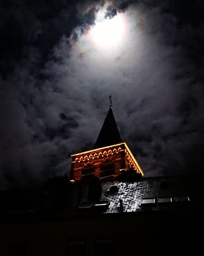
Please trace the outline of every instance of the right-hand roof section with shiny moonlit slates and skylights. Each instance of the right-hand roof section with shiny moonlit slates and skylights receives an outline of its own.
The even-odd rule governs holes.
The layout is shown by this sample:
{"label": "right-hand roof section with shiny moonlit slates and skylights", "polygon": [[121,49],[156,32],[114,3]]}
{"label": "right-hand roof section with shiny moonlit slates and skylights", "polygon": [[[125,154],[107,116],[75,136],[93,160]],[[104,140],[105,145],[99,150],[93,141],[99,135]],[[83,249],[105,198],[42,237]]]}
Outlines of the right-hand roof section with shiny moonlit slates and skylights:
{"label": "right-hand roof section with shiny moonlit slates and skylights", "polygon": [[106,181],[102,182],[101,204],[109,202],[103,213],[202,208],[203,192],[203,185],[191,176],[141,178],[134,182]]}

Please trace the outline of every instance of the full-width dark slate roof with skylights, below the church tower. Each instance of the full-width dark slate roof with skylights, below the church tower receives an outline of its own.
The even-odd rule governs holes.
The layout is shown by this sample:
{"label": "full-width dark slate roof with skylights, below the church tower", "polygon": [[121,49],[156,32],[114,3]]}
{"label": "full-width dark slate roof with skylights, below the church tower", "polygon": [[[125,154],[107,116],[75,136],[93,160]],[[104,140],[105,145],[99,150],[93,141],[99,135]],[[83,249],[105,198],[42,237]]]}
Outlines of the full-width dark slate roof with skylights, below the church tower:
{"label": "full-width dark slate roof with skylights, below the church tower", "polygon": [[104,181],[97,201],[88,200],[89,183],[64,183],[54,189],[38,187],[1,191],[1,221],[35,218],[45,221],[96,214],[203,209],[202,180],[202,177],[173,176]]}

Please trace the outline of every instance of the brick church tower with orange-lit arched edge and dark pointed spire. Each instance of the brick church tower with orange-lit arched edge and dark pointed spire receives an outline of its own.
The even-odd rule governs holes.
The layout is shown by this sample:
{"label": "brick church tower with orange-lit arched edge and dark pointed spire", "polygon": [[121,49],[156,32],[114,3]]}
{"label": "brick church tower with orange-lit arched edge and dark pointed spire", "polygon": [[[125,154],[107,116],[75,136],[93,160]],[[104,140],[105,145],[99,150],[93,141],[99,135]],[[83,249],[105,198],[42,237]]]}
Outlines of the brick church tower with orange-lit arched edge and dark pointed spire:
{"label": "brick church tower with orange-lit arched edge and dark pointed spire", "polygon": [[89,181],[96,176],[109,180],[119,176],[122,171],[135,170],[144,175],[126,142],[121,136],[113,115],[110,97],[108,114],[92,150],[72,154],[70,181]]}

